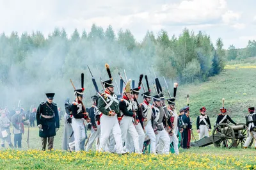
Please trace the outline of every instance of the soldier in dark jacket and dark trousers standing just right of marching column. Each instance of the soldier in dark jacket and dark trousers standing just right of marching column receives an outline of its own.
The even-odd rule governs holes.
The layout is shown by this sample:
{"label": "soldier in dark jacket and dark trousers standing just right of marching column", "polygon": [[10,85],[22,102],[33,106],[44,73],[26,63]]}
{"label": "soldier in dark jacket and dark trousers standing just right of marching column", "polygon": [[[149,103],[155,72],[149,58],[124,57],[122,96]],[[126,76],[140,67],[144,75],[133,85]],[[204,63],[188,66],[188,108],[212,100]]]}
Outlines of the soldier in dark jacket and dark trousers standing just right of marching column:
{"label": "soldier in dark jacket and dark trousers standing just right of marching column", "polygon": [[182,148],[189,149],[190,148],[190,140],[191,140],[191,130],[192,123],[189,117],[189,107],[186,106],[183,108],[184,114],[181,117],[182,122]]}

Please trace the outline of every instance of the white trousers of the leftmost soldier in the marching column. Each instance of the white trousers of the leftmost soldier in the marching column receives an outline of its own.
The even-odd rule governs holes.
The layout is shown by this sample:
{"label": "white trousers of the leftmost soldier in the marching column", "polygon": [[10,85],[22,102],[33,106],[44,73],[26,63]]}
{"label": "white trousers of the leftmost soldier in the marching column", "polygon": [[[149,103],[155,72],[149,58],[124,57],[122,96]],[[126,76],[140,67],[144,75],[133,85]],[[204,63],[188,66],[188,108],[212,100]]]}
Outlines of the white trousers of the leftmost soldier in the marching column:
{"label": "white trousers of the leftmost soldier in the marching column", "polygon": [[72,118],[72,128],[74,131],[74,141],[69,143],[68,146],[71,150],[80,151],[80,143],[85,139],[85,128],[84,128],[84,119]]}

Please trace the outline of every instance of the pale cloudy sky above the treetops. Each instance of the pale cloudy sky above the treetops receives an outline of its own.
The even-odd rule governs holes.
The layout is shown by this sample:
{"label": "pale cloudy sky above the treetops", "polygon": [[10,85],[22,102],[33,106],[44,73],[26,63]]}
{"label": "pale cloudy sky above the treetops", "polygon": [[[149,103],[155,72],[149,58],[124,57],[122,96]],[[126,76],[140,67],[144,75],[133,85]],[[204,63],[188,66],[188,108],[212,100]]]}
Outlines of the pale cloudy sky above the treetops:
{"label": "pale cloudy sky above the treetops", "polygon": [[0,0],[0,33],[47,36],[64,27],[70,36],[76,28],[82,33],[92,24],[104,29],[110,24],[116,33],[130,29],[140,42],[147,30],[179,36],[187,27],[207,33],[214,44],[222,38],[225,49],[230,44],[243,48],[256,40],[255,6],[255,0]]}

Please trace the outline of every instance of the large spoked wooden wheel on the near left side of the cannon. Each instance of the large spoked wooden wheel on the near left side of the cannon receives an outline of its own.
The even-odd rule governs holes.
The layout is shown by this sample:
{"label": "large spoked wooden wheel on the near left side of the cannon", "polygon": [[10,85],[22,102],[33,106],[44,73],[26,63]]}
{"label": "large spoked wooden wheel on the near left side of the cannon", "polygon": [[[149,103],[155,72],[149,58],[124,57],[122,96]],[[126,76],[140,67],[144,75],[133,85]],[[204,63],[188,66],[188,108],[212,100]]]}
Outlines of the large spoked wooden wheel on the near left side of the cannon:
{"label": "large spoked wooden wheel on the near left side of the cannon", "polygon": [[215,147],[231,148],[235,139],[235,132],[227,123],[220,123],[212,131],[212,143]]}

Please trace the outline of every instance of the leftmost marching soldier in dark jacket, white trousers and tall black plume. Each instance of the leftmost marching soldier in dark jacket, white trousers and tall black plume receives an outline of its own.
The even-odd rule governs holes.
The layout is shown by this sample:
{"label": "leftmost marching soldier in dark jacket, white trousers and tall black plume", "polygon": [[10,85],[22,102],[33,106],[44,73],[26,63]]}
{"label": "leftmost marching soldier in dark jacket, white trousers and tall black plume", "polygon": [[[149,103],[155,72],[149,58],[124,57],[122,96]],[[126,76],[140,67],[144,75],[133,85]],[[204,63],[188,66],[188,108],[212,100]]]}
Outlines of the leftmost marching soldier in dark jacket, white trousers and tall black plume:
{"label": "leftmost marching soldier in dark jacket, white trousers and tall black plume", "polygon": [[74,90],[76,100],[72,102],[72,105],[70,107],[70,111],[72,114],[71,126],[74,131],[74,141],[72,143],[68,143],[68,148],[70,148],[70,151],[83,150],[83,146],[81,146],[81,143],[83,143],[84,139],[86,138],[84,120],[86,119],[88,123],[90,122],[88,112],[86,112],[86,109],[82,102],[84,95],[84,73],[81,73],[81,84],[81,89]]}

